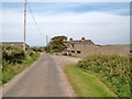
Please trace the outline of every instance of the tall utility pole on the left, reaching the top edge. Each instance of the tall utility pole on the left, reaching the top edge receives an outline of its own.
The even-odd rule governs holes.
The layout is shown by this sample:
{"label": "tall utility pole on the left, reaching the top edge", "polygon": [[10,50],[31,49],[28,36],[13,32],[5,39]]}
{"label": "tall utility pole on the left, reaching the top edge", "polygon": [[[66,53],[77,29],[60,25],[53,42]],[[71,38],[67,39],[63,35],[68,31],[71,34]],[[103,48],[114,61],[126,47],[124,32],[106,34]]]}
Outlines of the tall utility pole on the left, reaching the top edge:
{"label": "tall utility pole on the left, reaching the top edge", "polygon": [[24,0],[24,42],[23,42],[23,50],[25,51],[25,34],[26,34],[26,0]]}

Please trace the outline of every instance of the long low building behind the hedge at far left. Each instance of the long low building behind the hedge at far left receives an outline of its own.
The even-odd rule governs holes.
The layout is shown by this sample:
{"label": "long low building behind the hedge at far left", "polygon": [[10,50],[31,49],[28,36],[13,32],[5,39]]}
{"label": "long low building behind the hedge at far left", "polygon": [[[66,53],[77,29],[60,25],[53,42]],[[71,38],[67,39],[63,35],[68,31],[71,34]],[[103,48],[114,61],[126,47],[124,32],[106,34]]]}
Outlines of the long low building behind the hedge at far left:
{"label": "long low building behind the hedge at far left", "polygon": [[[0,42],[1,46],[18,46],[23,47],[23,42]],[[30,47],[30,45],[25,44],[26,48]]]}

